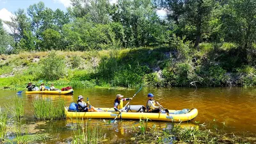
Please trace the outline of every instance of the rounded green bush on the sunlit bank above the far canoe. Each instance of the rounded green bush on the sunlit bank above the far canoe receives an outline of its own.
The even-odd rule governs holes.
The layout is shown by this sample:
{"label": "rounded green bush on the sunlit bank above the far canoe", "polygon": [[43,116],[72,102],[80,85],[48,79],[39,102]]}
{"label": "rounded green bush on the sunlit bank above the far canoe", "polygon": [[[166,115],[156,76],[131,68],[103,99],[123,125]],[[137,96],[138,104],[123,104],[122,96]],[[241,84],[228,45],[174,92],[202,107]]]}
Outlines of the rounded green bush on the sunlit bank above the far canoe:
{"label": "rounded green bush on the sunlit bank above the far canoe", "polygon": [[65,76],[65,59],[63,56],[58,56],[56,51],[49,52],[47,58],[39,62],[39,79],[56,80]]}

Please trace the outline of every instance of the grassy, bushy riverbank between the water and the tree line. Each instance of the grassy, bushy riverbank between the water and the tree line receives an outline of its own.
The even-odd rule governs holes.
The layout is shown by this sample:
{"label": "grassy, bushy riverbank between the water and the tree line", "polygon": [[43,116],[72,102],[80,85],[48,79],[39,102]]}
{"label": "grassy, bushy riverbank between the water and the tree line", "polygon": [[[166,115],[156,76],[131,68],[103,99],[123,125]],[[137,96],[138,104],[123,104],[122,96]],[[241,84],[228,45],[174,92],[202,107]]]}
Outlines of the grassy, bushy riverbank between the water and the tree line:
{"label": "grassy, bushy riverbank between the water and the tree line", "polygon": [[[183,44],[183,43],[182,43]],[[232,46],[232,45],[231,45]],[[0,56],[0,88],[44,80],[56,87],[255,86],[256,70],[230,56],[234,45],[200,44],[103,51],[20,52]],[[236,58],[236,56],[234,56]],[[236,64],[236,65],[235,65]]]}

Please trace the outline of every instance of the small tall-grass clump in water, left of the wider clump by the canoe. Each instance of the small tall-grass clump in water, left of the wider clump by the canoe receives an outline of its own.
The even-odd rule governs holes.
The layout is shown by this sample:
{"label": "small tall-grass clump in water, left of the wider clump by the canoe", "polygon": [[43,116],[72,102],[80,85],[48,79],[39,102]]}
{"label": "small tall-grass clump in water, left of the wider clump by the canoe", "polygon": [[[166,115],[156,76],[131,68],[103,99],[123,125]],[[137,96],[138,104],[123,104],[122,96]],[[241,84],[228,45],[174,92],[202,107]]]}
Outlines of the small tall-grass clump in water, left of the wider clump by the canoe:
{"label": "small tall-grass clump in water, left of the wider clump by the canoe", "polygon": [[24,116],[24,100],[15,97],[12,102],[7,104],[6,109],[14,116],[15,120],[20,120]]}

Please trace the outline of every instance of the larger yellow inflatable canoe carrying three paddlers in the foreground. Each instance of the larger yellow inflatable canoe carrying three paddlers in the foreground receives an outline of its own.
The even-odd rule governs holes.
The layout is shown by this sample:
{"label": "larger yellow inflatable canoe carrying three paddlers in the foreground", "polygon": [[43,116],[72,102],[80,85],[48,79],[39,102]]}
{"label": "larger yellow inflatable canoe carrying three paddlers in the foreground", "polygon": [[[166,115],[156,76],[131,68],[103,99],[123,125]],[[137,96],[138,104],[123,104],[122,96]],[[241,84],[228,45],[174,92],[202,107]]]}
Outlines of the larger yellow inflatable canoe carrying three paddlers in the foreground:
{"label": "larger yellow inflatable canoe carrying three paddlers in the foreground", "polygon": [[[111,118],[114,119],[118,112],[115,112],[113,108],[97,108],[104,112],[72,112],[68,111],[65,107],[65,115],[67,118]],[[116,119],[150,119],[150,120],[161,120],[171,122],[187,122],[193,120],[198,115],[198,110],[193,108],[189,109],[188,113],[175,114],[177,110],[169,110],[169,115],[166,113],[139,113],[139,112],[122,112]]]}

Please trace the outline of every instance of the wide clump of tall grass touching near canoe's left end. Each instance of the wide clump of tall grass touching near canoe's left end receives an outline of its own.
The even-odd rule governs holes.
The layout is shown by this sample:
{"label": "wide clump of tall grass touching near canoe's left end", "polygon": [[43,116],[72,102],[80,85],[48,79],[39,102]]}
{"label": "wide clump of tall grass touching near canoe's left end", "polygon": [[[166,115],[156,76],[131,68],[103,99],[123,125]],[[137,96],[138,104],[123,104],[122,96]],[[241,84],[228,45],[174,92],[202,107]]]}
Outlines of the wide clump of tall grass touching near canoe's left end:
{"label": "wide clump of tall grass touching near canoe's left end", "polygon": [[65,101],[63,99],[54,103],[50,99],[37,99],[33,101],[34,115],[38,120],[57,120],[65,118]]}

